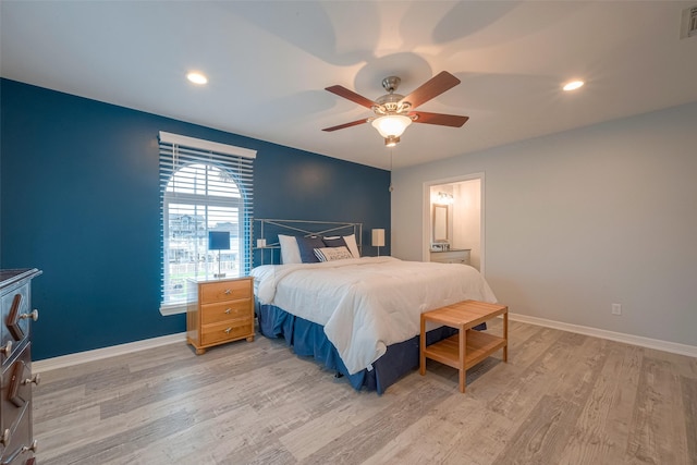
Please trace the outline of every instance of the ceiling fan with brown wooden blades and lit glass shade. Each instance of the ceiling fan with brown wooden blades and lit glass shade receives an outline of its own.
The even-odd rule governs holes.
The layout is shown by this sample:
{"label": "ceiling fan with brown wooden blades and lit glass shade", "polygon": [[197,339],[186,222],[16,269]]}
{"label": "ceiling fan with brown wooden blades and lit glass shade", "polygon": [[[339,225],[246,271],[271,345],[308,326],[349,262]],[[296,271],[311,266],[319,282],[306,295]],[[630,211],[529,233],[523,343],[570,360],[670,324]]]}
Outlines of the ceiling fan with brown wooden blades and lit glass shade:
{"label": "ceiling fan with brown wooden blades and lit glass shade", "polygon": [[384,145],[388,147],[394,147],[400,142],[400,137],[404,133],[404,130],[406,130],[412,122],[462,127],[462,125],[469,119],[469,117],[458,117],[455,114],[415,111],[415,108],[419,105],[438,97],[445,90],[449,90],[460,84],[460,79],[449,72],[440,72],[406,97],[400,94],[394,94],[400,82],[401,79],[398,76],[388,76],[382,79],[382,87],[388,91],[388,94],[377,98],[375,101],[363,97],[353,90],[348,90],[343,86],[337,85],[326,87],[325,90],[329,90],[339,97],[346,98],[363,107],[369,108],[375,113],[375,117],[363,118],[338,126],[325,127],[322,131],[332,132],[363,123],[371,123],[372,126],[378,130],[380,135],[384,137]]}

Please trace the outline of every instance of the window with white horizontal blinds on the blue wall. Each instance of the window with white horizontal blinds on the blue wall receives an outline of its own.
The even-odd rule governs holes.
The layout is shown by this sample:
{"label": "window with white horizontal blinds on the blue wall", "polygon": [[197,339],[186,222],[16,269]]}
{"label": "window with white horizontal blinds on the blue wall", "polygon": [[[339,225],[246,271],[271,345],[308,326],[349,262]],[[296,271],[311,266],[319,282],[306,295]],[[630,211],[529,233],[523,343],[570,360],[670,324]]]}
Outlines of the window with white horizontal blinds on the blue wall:
{"label": "window with white horizontal blinds on the blue wall", "polygon": [[[241,277],[252,264],[256,151],[160,132],[162,315],[186,308],[186,280]],[[211,250],[208,232],[230,234]]]}

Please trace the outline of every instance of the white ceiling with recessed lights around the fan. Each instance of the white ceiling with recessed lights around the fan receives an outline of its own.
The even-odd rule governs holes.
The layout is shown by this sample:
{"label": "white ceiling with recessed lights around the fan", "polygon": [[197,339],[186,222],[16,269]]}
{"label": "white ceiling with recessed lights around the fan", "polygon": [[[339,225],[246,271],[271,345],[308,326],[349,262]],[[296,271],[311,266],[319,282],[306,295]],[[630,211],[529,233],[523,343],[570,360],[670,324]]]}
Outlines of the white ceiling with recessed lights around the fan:
{"label": "white ceiling with recessed lights around the fan", "polygon": [[[440,71],[462,84],[418,107],[401,168],[697,101],[697,37],[673,1],[0,2],[2,77],[378,168],[370,111],[323,90],[407,95]],[[209,84],[185,79],[200,70]],[[572,77],[587,84],[562,93]]]}

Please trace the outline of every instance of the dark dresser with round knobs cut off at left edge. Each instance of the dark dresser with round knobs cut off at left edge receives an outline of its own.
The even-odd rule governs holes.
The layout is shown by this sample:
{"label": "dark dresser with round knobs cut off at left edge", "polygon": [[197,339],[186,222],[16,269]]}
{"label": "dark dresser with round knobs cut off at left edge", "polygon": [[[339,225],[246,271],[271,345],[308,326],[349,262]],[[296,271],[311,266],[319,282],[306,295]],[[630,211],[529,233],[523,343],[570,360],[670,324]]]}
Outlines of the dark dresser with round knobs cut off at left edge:
{"label": "dark dresser with round knobs cut off at left edge", "polygon": [[32,325],[39,317],[32,310],[32,279],[37,269],[0,270],[0,357],[2,400],[0,401],[0,463],[34,463],[36,441],[32,429]]}

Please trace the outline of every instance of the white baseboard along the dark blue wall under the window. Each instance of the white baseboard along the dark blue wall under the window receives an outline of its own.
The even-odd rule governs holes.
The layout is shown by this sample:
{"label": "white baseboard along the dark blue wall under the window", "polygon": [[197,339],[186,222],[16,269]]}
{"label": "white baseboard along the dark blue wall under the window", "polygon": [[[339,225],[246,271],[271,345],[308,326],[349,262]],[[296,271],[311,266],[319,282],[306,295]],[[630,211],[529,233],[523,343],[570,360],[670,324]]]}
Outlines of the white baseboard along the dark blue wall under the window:
{"label": "white baseboard along the dark blue wall under the window", "polygon": [[160,338],[145,339],[143,341],[130,342],[127,344],[112,345],[110,347],[96,348],[94,351],[78,352],[76,354],[62,355],[60,357],[46,358],[44,360],[32,362],[33,372],[46,372],[58,368],[65,368],[87,362],[101,360],[117,355],[130,354],[144,351],[146,348],[159,347],[162,345],[181,343],[186,341],[186,333],[162,335]]}

